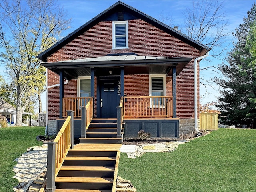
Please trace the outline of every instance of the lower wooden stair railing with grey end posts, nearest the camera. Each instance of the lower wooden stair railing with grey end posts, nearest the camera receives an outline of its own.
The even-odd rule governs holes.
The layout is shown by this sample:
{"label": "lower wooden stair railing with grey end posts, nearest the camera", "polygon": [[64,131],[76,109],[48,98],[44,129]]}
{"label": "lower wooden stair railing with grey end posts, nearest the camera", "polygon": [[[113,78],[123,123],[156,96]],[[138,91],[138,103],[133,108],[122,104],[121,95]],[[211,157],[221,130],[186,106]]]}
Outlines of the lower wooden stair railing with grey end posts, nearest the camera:
{"label": "lower wooden stair railing with grey end posts, nearest the camera", "polygon": [[68,111],[68,117],[53,142],[48,142],[47,183],[45,192],[54,192],[55,179],[68,151],[74,148],[74,111]]}

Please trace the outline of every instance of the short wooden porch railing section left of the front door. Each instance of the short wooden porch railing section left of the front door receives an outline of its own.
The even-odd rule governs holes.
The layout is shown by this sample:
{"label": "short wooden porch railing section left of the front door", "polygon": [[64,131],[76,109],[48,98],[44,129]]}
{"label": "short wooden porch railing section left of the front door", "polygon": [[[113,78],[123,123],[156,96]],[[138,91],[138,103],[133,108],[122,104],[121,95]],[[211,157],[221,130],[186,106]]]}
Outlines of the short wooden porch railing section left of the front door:
{"label": "short wooden porch railing section left of the front door", "polygon": [[86,106],[90,97],[65,97],[63,98],[63,110],[62,116],[66,118],[67,111],[74,111],[74,118],[81,118],[82,116],[82,106]]}

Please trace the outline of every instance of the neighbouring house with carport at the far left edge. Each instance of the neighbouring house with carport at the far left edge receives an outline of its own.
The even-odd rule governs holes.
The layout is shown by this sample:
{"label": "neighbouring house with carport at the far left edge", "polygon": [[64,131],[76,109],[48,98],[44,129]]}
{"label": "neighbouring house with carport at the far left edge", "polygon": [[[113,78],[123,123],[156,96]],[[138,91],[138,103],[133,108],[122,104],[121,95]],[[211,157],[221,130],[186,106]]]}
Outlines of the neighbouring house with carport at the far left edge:
{"label": "neighbouring house with carport at the far left edge", "polygon": [[[16,123],[16,108],[8,102],[6,102],[5,100],[3,100],[2,98],[0,98],[0,115],[6,117],[6,120],[9,125],[14,125]],[[30,115],[31,120],[32,113],[24,112],[23,115]]]}

